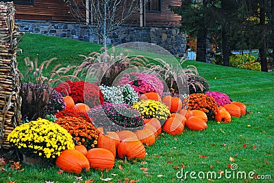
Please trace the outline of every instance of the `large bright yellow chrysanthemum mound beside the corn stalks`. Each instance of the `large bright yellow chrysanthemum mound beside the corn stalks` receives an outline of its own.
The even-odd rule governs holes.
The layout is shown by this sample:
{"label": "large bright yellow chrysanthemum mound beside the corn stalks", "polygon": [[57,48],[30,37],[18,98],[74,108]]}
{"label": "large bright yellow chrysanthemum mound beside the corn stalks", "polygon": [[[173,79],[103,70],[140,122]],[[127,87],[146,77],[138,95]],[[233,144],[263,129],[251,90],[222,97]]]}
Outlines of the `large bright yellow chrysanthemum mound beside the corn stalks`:
{"label": "large bright yellow chrysanthemum mound beside the corn stalks", "polygon": [[39,118],[17,126],[8,141],[28,157],[53,159],[66,149],[73,149],[73,137],[60,125]]}

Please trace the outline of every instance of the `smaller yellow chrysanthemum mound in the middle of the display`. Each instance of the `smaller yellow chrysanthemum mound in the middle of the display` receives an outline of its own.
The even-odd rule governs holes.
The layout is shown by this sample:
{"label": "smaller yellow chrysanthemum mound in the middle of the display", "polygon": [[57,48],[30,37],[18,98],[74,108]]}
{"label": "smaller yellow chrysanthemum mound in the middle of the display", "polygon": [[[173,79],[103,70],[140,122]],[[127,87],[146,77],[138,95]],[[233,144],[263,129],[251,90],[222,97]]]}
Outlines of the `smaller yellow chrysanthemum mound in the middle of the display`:
{"label": "smaller yellow chrysanthemum mound in the middle of the display", "polygon": [[155,100],[141,100],[136,102],[132,107],[142,114],[142,118],[150,119],[155,117],[161,123],[164,123],[171,115],[169,107],[164,103]]}

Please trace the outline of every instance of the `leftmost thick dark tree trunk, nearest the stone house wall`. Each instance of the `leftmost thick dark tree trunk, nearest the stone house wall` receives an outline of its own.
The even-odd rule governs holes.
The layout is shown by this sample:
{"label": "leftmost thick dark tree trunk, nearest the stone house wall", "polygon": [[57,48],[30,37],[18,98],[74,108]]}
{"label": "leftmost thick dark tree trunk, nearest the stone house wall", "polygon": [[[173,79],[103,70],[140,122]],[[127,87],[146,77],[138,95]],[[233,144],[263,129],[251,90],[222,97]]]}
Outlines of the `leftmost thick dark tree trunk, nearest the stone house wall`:
{"label": "leftmost thick dark tree trunk, nearest the stone house wall", "polygon": [[197,61],[206,62],[206,31],[201,29],[197,35]]}

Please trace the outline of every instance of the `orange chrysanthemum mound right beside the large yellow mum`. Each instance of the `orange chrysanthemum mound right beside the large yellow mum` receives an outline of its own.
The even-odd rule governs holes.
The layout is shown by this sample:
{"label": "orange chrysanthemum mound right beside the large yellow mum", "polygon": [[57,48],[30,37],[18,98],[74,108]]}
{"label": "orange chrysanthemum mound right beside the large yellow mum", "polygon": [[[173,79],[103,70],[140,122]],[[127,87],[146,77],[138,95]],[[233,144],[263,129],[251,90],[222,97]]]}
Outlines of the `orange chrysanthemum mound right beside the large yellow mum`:
{"label": "orange chrysanthemum mound right beside the large yellow mum", "polygon": [[66,129],[78,144],[85,145],[88,150],[97,146],[99,130],[82,117],[65,116],[55,121]]}

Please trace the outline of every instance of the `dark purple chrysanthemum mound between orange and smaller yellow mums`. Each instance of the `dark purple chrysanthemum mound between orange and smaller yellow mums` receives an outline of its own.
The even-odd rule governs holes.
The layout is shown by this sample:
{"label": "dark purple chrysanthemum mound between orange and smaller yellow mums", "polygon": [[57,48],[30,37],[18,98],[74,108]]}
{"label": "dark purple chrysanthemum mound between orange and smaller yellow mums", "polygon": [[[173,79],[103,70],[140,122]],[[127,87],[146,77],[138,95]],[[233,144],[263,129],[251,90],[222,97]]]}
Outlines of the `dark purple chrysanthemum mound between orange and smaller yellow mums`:
{"label": "dark purple chrysanthemum mound between orange and smaller yellow mums", "polygon": [[118,132],[123,128],[134,130],[144,125],[142,115],[129,104],[104,102],[102,106],[90,109],[88,116],[97,127],[103,127],[107,131]]}

